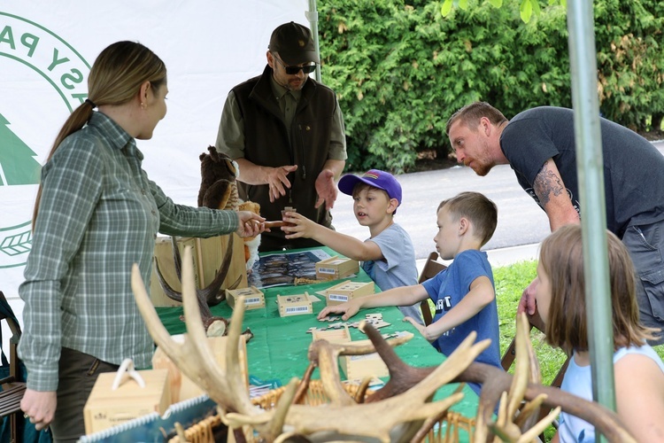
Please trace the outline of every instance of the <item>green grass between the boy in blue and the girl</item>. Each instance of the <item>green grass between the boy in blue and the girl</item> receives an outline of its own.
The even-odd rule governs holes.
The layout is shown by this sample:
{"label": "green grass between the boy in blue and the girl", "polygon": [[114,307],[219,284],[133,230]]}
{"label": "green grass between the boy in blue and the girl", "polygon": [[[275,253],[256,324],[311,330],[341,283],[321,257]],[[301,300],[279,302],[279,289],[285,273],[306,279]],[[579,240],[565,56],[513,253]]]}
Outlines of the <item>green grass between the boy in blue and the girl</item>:
{"label": "green grass between the boy in blue and the girl", "polygon": [[[500,326],[500,354],[505,354],[507,346],[512,342],[515,332],[516,308],[521,299],[523,289],[537,276],[537,261],[526,260],[511,266],[494,268],[493,278],[496,284],[496,297],[498,299],[498,323]],[[544,342],[544,334],[533,329],[530,338],[537,354],[543,385],[550,385],[565,361],[565,354],[560,349],[553,349]],[[654,347],[657,354],[664,359],[664,345]],[[513,371],[513,368],[510,369]],[[550,439],[553,429],[545,433]]]}

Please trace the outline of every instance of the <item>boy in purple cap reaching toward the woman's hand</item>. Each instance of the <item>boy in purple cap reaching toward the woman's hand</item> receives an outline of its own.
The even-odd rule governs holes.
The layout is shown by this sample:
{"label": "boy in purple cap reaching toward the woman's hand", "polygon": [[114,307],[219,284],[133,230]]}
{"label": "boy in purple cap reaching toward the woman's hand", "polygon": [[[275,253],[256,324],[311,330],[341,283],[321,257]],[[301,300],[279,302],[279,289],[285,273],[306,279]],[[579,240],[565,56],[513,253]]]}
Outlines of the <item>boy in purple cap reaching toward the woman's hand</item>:
{"label": "boy in purple cap reaching toward the woman's hand", "polygon": [[[353,212],[359,224],[369,228],[370,237],[361,242],[334,229],[326,228],[302,214],[286,213],[286,238],[312,238],[337,253],[362,262],[362,268],[381,291],[417,284],[415,250],[408,233],[394,222],[401,205],[401,185],[390,173],[371,169],[364,175],[344,175],[339,190],[352,196]],[[401,313],[423,325],[420,303],[399,306]]]}

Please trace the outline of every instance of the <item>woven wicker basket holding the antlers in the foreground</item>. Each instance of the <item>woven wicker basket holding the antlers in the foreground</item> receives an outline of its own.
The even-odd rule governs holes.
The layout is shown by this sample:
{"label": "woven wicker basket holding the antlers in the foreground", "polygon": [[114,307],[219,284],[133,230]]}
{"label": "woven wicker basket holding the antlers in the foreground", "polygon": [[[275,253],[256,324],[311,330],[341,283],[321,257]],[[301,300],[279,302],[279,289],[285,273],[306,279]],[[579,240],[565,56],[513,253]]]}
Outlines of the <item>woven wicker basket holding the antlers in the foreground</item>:
{"label": "woven wicker basket holding the antlers in the foreground", "polygon": [[[358,392],[359,386],[344,384],[344,388],[346,392],[354,397],[356,392]],[[251,402],[260,408],[274,408],[285,390],[285,386],[273,389],[272,391],[251,400]],[[372,392],[367,391],[367,394],[369,393]],[[310,406],[319,406],[328,403],[328,397],[325,395],[325,392],[323,392],[320,380],[312,380],[309,383],[309,389],[306,392],[304,401],[306,405]],[[223,426],[220,416],[214,415],[206,417],[197,424],[184,430],[184,438],[190,443],[214,443],[213,431],[219,426]],[[474,428],[475,419],[467,418],[456,412],[450,411],[441,420],[434,424],[423,441],[429,443],[460,441],[459,431],[464,431],[465,435],[468,437],[467,441],[472,441]],[[251,441],[251,436],[247,437],[247,441]],[[464,440],[466,439],[464,438]],[[174,437],[173,439],[170,439],[168,443],[180,442],[181,439]]]}

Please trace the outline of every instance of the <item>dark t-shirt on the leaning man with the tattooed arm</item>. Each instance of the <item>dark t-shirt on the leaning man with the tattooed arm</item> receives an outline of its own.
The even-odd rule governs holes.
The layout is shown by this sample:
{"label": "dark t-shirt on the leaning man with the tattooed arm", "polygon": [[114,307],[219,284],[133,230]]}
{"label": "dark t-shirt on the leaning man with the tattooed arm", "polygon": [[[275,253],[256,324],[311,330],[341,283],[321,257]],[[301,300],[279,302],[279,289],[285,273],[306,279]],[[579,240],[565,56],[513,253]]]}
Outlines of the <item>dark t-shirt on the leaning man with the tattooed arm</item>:
{"label": "dark t-shirt on the leaning man with the tattooed arm", "polygon": [[[612,121],[600,119],[600,130],[606,227],[622,237],[629,225],[664,220],[664,156],[644,137]],[[519,113],[503,130],[500,147],[521,188],[536,201],[535,177],[553,159],[581,214],[571,109],[543,106]]]}

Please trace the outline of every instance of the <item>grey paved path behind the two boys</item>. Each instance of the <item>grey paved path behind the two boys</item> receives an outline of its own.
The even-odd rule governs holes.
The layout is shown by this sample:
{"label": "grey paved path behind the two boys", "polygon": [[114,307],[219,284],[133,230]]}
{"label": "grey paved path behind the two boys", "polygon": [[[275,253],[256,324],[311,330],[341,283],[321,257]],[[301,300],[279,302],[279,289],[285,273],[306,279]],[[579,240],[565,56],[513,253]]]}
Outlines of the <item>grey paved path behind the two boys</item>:
{"label": "grey paved path behind the two boys", "polygon": [[[664,141],[653,144],[664,154]],[[398,175],[398,181],[404,190],[404,201],[395,220],[413,239],[416,259],[424,259],[435,250],[433,237],[440,201],[463,190],[482,192],[498,206],[498,227],[484,246],[496,262],[502,264],[535,257],[537,244],[549,234],[546,214],[521,190],[508,165],[494,167],[485,177],[475,175],[469,167],[452,167]],[[359,226],[355,219],[350,196],[339,193],[332,215],[333,224],[340,232],[360,240],[368,237],[368,229]]]}

